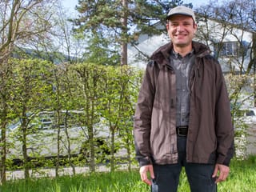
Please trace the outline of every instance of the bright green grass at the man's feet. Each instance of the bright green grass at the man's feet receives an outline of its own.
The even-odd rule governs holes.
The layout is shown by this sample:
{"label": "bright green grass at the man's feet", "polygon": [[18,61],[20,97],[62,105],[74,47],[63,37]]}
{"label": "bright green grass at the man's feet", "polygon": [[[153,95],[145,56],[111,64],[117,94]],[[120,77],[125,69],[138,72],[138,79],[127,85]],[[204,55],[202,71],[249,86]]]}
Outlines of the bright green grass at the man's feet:
{"label": "bright green grass at the man's feet", "polygon": [[[138,170],[114,173],[78,174],[73,177],[40,178],[6,182],[4,192],[149,192],[140,181]],[[189,192],[186,174],[182,171],[178,191]],[[256,192],[256,157],[233,160],[230,176],[218,184],[218,192]]]}

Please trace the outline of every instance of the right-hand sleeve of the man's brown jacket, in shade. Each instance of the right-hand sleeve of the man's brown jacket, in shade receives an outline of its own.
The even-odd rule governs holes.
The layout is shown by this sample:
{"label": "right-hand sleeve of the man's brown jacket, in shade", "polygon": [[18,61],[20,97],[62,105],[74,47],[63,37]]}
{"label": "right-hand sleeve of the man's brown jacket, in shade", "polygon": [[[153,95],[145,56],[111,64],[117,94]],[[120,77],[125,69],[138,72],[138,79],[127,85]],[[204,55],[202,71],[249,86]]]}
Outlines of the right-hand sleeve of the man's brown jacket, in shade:
{"label": "right-hand sleeve of the man's brown jacket, in shade", "polygon": [[219,64],[217,69],[215,127],[218,148],[216,162],[229,166],[230,160],[234,156],[234,127],[231,120],[230,99],[226,89],[226,82]]}

